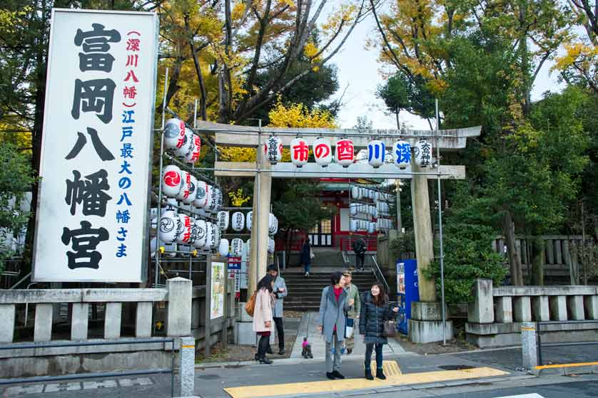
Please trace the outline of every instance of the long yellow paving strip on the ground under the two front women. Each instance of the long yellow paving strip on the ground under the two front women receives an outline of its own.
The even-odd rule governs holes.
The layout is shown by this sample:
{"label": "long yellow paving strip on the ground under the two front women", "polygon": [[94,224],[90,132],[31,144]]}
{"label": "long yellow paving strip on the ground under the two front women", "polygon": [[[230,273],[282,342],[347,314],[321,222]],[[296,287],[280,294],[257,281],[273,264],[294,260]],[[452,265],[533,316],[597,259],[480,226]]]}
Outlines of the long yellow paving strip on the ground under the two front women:
{"label": "long yellow paving strip on the ground under the two front women", "polygon": [[321,392],[341,392],[354,389],[368,389],[372,387],[432,383],[459,379],[477,379],[480,377],[496,377],[502,375],[508,375],[508,373],[503,372],[502,370],[493,369],[492,367],[475,367],[464,370],[440,370],[437,372],[399,374],[390,376],[386,380],[368,380],[360,377],[359,379],[327,380],[322,382],[232,387],[225,388],[224,391],[233,398],[276,397],[281,394],[318,394]]}

